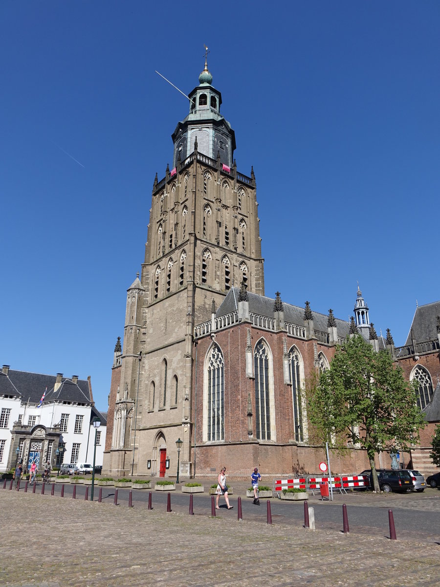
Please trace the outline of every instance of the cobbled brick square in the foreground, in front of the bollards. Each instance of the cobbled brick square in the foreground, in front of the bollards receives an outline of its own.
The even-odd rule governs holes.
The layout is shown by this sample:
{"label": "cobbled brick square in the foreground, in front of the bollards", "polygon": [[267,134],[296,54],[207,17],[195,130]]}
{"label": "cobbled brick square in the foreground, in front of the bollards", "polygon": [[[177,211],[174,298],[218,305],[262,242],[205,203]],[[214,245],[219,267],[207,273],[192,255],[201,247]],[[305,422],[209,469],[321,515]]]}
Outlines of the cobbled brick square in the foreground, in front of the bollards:
{"label": "cobbled brick square in the foreground, in front of the bollards", "polygon": [[440,546],[0,491],[8,587],[436,585]]}

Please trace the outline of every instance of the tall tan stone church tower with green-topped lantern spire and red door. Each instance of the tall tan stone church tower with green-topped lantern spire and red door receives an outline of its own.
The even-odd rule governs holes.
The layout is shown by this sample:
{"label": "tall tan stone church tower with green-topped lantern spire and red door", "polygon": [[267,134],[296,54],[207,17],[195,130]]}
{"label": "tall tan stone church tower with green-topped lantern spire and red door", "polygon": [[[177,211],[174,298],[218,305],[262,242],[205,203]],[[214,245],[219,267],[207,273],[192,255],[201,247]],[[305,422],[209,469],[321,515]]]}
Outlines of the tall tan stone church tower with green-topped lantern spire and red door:
{"label": "tall tan stone church tower with green-topped lantern spire and red door", "polygon": [[234,284],[264,295],[255,176],[236,169],[235,133],[206,58],[188,99],[172,169],[154,179],[141,277],[128,289],[118,374],[126,422],[115,424],[104,455],[113,474],[165,475],[180,438],[180,471],[191,475],[194,325]]}

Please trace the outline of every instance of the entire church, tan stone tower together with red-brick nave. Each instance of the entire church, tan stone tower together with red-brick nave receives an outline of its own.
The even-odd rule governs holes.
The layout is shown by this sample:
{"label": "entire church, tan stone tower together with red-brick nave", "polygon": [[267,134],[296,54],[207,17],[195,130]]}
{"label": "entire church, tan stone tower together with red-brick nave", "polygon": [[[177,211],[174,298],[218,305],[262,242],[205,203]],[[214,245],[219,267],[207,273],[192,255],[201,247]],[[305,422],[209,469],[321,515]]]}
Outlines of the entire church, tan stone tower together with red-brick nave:
{"label": "entire church, tan stone tower together with red-brick nave", "polygon": [[[325,448],[309,438],[306,382],[355,333],[405,363],[434,429],[438,303],[423,320],[416,312],[417,335],[395,348],[389,330],[377,336],[359,287],[350,322],[309,302],[287,303],[279,292],[265,296],[255,174],[237,170],[235,133],[220,113],[207,53],[189,113],[171,135],[172,168],[154,178],[144,262],[127,290],[123,343],[118,338],[114,349],[104,471],[173,476],[179,450],[185,477],[214,477],[221,465],[233,475],[254,466],[316,473]],[[405,454],[414,468],[435,469],[426,461],[429,438]],[[368,467],[365,452],[350,448],[333,457],[335,472]],[[381,454],[377,466],[390,464]]]}

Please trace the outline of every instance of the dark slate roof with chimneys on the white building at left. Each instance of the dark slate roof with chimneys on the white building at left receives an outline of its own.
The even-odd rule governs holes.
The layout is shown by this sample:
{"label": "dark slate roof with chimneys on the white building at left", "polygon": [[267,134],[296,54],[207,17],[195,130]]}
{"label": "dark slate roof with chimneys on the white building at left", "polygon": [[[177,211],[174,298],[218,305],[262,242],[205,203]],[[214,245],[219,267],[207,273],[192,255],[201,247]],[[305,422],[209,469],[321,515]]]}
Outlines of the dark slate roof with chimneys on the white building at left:
{"label": "dark slate roof with chimneys on the white building at left", "polygon": [[90,386],[87,380],[78,379],[77,383],[62,378],[62,383],[56,392],[53,391],[56,376],[42,375],[40,373],[28,373],[26,371],[14,371],[9,369],[8,375],[0,371],[0,396],[4,394],[21,397],[22,402],[38,404],[46,387],[48,391],[45,403],[58,400],[72,403],[93,403],[90,394]]}

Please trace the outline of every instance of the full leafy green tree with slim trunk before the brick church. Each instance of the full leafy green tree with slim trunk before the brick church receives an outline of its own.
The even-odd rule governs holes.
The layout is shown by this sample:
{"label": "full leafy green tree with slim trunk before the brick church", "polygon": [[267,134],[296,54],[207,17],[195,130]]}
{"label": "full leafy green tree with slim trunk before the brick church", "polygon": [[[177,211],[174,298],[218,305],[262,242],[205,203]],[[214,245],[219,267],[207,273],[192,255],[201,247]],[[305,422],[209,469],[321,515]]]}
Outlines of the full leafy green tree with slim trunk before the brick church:
{"label": "full leafy green tree with slim trunk before the brick church", "polygon": [[405,381],[386,350],[375,352],[361,335],[336,349],[330,368],[310,386],[308,404],[321,441],[336,450],[350,441],[367,451],[375,491],[375,454],[408,450],[425,425],[416,387]]}

